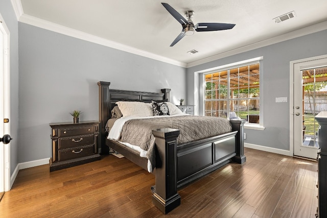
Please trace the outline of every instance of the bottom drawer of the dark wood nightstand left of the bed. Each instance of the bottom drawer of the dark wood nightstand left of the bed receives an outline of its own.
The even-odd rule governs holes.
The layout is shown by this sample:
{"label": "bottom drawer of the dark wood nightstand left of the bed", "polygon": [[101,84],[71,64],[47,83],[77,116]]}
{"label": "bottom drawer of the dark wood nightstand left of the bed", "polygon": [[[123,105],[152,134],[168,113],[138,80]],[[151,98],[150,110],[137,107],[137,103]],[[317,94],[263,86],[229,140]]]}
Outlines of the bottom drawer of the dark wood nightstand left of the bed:
{"label": "bottom drawer of the dark wood nightstand left of the bed", "polygon": [[59,161],[71,160],[86,157],[95,154],[94,144],[91,146],[83,146],[74,149],[66,149],[59,151]]}

